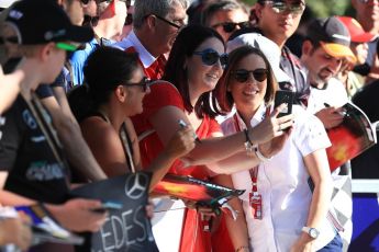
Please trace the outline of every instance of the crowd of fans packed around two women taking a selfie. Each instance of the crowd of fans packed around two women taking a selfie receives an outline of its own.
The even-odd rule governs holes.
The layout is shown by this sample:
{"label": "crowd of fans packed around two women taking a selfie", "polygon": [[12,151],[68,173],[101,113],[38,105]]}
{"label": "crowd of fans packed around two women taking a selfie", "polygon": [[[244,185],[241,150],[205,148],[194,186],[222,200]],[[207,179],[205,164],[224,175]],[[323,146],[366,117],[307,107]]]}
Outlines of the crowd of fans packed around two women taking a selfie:
{"label": "crowd of fans packed around two women taking a selfie", "polygon": [[[40,203],[94,232],[107,213],[69,198],[76,184],[148,171],[154,191],[174,173],[245,193],[230,202],[236,218],[167,199],[183,220],[157,214],[169,227],[154,230],[160,251],[347,251],[352,192],[332,191],[350,186],[352,168],[331,172],[326,131],[349,101],[379,118],[379,2],[352,4],[356,19],[313,16],[305,0],[2,5],[0,205]],[[294,92],[289,115],[278,90]],[[377,152],[352,161],[355,177],[378,177]],[[29,221],[0,219],[0,245],[27,250]]]}

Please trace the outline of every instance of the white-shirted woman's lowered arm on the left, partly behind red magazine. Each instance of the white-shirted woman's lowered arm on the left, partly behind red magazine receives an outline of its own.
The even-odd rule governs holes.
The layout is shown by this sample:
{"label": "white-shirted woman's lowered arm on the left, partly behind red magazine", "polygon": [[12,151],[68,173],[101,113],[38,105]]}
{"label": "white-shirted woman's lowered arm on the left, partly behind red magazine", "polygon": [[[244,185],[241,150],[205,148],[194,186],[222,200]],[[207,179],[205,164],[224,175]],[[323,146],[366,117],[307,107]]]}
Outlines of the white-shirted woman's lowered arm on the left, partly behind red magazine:
{"label": "white-shirted woman's lowered arm on the left, partly behind red magazine", "polygon": [[[230,175],[216,175],[212,177],[212,182],[230,188],[233,188],[233,182]],[[237,211],[237,219],[234,220],[231,216],[225,216],[226,227],[228,236],[234,245],[234,251],[239,249],[239,252],[248,252],[248,232],[244,215],[244,209],[238,197],[235,197],[228,202],[231,207]]]}

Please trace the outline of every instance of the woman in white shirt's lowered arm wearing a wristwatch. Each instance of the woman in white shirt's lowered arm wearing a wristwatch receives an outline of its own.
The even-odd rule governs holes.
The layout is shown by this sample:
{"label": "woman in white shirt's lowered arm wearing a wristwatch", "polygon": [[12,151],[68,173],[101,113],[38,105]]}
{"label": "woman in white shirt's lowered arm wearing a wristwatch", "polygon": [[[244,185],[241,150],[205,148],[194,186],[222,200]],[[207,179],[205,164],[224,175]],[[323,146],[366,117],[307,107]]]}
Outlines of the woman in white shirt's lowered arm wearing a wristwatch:
{"label": "woman in white shirt's lowered arm wearing a wristwatch", "polygon": [[[325,149],[319,149],[303,159],[314,183],[306,227],[320,230],[321,224],[327,215],[333,188],[326,151]],[[311,248],[312,241],[313,239],[308,233],[301,232],[291,251],[303,251],[305,248]]]}

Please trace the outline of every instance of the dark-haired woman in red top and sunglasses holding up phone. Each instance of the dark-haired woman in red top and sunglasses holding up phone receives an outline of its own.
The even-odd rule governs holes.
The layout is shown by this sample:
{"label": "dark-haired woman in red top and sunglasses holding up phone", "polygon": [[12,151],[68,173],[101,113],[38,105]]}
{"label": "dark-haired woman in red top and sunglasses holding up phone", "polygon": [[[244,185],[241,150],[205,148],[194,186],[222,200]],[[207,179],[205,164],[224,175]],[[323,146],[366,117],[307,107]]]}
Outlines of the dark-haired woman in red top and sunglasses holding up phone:
{"label": "dark-haired woman in red top and sunglasses holding up phone", "polygon": [[[133,117],[137,135],[141,136],[140,148],[144,165],[151,163],[167,145],[168,139],[180,127],[178,125],[180,119],[196,129],[201,142],[196,145],[194,150],[186,156],[186,159],[181,159],[185,162],[176,162],[170,173],[212,180],[231,186],[228,176],[215,176],[214,172],[231,173],[248,169],[259,162],[254,151],[252,152],[252,149],[245,146],[246,136],[257,145],[281,136],[275,138],[272,145],[260,145],[259,150],[266,157],[271,157],[281,148],[287,134],[278,130],[279,125],[291,126],[291,116],[279,119],[269,116],[246,134],[237,133],[222,137],[220,125],[214,119],[216,113],[210,103],[210,92],[216,85],[226,65],[222,37],[212,28],[190,25],[181,30],[174,43],[163,78],[172,84],[163,82],[153,85],[154,95],[146,95],[144,112]],[[279,113],[281,108],[283,107],[276,110],[274,114]],[[187,168],[183,168],[185,165]],[[237,201],[232,201],[231,205],[238,210]],[[177,234],[181,237],[179,251],[211,251],[210,233],[204,231],[207,224],[201,221],[201,215],[194,209],[188,209],[185,214],[182,230],[180,227],[176,230],[168,230],[168,228],[161,230],[167,238],[166,245],[174,243],[174,237]],[[236,221],[226,218],[227,228],[233,230],[230,234],[234,249],[227,247],[227,240],[218,241],[226,251],[227,249],[228,251],[247,249],[246,227],[241,217],[238,216]],[[167,248],[159,249],[167,251]]]}

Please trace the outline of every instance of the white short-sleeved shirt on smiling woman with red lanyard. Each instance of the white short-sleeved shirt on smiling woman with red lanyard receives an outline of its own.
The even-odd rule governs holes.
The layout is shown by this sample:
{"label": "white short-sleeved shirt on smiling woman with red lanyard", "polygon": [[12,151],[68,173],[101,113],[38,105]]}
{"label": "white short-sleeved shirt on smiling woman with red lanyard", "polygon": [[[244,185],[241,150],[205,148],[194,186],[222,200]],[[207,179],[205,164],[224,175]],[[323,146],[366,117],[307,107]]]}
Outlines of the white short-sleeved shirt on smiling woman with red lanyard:
{"label": "white short-sleeved shirt on smiling woman with red lanyard", "polygon": [[[263,121],[266,107],[261,105],[252,126]],[[293,106],[296,116],[294,130],[283,149],[271,160],[260,163],[258,168],[258,193],[263,198],[263,219],[254,219],[248,203],[252,179],[248,171],[232,174],[235,188],[246,190],[241,196],[246,216],[250,247],[254,251],[288,252],[306,226],[312,192],[308,180],[310,174],[303,157],[327,148],[331,142],[322,123],[300,106]],[[241,128],[245,128],[238,117]],[[225,135],[236,131],[234,117],[221,125]],[[328,170],[328,168],[325,168]],[[325,220],[320,228],[320,237],[314,244],[317,249],[326,245],[335,236],[332,226]]]}

